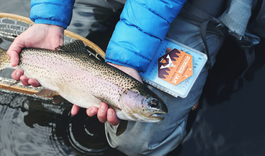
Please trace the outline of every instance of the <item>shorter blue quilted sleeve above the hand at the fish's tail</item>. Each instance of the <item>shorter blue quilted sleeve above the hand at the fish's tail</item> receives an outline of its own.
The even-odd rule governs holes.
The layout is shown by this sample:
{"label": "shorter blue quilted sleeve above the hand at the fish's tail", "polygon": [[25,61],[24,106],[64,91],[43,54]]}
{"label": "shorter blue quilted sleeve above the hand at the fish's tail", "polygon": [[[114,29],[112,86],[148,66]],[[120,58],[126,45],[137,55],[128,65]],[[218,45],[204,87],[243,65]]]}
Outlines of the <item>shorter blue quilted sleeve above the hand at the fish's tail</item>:
{"label": "shorter blue quilted sleeve above the hand at the fish's tail", "polygon": [[35,23],[69,26],[75,0],[31,0],[30,19]]}

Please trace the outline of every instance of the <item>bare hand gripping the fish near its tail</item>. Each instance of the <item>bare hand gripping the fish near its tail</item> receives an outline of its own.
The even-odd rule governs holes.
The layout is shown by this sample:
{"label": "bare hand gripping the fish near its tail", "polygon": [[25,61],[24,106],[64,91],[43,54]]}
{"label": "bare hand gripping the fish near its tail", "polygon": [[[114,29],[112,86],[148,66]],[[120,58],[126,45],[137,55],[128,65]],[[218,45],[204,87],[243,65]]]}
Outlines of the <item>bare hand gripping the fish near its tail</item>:
{"label": "bare hand gripping the fish near its tail", "polygon": [[[25,32],[15,38],[9,49],[7,55],[11,60],[13,67],[17,66],[19,58],[18,53],[24,47],[55,49],[64,43],[64,27],[49,25],[49,24],[34,24]],[[36,54],[37,55],[37,54]],[[21,69],[16,69],[12,73],[14,80],[21,80],[25,86],[32,85],[33,87],[40,86],[40,83],[35,79],[28,79],[23,75]]]}

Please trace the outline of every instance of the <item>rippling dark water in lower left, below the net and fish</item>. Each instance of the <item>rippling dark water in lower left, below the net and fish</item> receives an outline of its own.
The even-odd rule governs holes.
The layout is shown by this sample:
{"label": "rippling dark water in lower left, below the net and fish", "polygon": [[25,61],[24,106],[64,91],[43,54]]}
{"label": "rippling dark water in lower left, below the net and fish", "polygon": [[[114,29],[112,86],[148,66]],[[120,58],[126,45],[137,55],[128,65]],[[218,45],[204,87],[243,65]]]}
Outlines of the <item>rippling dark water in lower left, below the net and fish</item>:
{"label": "rippling dark water in lower left, below the net and fish", "polygon": [[72,104],[1,92],[0,155],[106,155],[104,124]]}

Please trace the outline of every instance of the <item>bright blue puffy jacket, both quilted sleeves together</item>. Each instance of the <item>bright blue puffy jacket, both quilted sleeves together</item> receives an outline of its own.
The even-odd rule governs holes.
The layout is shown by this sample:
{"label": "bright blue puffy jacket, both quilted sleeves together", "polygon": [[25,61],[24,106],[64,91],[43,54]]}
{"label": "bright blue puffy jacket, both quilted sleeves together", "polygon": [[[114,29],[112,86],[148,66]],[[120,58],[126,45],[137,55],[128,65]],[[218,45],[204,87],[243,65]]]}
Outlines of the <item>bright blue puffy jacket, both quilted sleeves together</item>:
{"label": "bright blue puffy jacket, both quilted sleeves together", "polygon": [[[127,0],[106,50],[106,62],[145,72],[186,0]],[[67,27],[75,0],[32,0],[31,20]]]}

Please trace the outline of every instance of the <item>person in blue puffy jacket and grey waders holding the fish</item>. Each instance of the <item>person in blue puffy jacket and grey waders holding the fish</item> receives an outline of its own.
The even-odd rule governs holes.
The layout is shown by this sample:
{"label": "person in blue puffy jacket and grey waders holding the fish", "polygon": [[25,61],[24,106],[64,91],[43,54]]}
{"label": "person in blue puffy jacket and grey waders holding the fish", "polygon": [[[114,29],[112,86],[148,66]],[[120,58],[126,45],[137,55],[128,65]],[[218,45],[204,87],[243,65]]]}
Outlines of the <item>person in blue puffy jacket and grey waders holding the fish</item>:
{"label": "person in blue puffy jacket and grey waders holding the fish", "polygon": [[[17,54],[23,47],[54,49],[63,44],[64,29],[70,24],[74,2],[75,0],[31,1],[30,18],[35,25],[19,35],[8,49],[7,53],[12,66],[17,65]],[[189,0],[188,3],[185,2],[186,0],[88,2],[97,6],[108,6],[113,11],[122,8],[125,3],[120,21],[108,43],[105,58],[107,63],[141,82],[138,73],[146,72],[160,42],[165,37],[204,52],[208,56],[208,62],[186,98],[176,98],[149,86],[164,100],[168,108],[168,115],[165,115],[165,119],[160,122],[129,121],[125,132],[117,137],[115,129],[120,120],[113,109],[108,108],[105,103],[102,103],[99,109],[96,107],[87,109],[89,116],[97,114],[99,121],[105,122],[105,132],[110,146],[124,154],[162,156],[181,143],[186,135],[188,114],[199,100],[208,69],[213,66],[215,56],[223,44],[224,33],[221,26],[224,25],[214,17],[221,17],[226,1]],[[195,8],[200,11],[194,12]],[[201,27],[201,25],[206,26]],[[34,87],[40,85],[36,80],[24,76],[20,69],[15,70],[12,77],[15,80],[20,79],[23,85]],[[71,113],[75,115],[78,110],[78,106],[74,105]]]}

